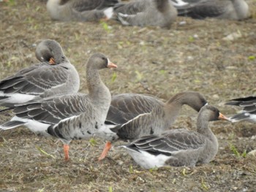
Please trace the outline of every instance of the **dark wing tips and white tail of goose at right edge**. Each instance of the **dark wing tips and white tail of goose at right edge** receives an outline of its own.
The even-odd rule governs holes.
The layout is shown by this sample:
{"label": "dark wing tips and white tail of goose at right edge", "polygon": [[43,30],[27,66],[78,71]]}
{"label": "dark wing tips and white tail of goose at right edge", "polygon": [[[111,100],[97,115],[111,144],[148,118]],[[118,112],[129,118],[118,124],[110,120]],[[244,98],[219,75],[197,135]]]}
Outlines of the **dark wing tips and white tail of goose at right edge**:
{"label": "dark wing tips and white tail of goose at right edge", "polygon": [[256,122],[256,96],[232,99],[226,104],[244,107],[241,113],[238,113],[230,118],[232,122],[239,120],[247,120],[253,123]]}

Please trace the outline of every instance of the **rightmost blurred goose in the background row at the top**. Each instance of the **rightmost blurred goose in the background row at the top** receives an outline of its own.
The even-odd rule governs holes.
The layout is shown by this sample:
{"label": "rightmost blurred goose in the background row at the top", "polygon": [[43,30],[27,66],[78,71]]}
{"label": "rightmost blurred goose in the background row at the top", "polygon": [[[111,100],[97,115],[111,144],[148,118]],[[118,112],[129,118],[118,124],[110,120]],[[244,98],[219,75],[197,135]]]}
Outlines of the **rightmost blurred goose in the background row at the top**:
{"label": "rightmost blurred goose in the background row at the top", "polygon": [[195,19],[219,18],[244,20],[249,17],[249,7],[244,0],[170,0],[179,16]]}

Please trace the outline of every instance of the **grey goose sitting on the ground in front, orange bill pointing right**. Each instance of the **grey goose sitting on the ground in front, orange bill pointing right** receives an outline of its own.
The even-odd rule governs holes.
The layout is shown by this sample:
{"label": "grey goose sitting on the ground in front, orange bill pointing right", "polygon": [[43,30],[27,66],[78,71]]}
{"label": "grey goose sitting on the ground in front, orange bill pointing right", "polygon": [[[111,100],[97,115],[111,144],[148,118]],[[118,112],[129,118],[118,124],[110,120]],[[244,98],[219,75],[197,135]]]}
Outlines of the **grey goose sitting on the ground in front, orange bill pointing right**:
{"label": "grey goose sitting on the ground in front, orange bill pointing right", "polygon": [[129,155],[144,169],[161,166],[195,166],[208,164],[218,151],[218,140],[209,121],[227,120],[216,107],[206,105],[197,117],[197,131],[173,129],[159,135],[141,137],[123,145]]}

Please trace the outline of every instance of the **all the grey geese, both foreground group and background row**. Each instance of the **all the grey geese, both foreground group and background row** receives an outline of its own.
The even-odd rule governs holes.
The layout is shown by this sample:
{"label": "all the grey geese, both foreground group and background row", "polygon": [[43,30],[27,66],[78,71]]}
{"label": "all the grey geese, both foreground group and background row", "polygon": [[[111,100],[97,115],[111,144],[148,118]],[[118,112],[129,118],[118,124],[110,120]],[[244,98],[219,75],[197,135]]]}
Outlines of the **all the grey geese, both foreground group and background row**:
{"label": "all the grey geese, both foreground group and background row", "polygon": [[[231,19],[243,19],[246,14],[238,11],[238,3],[243,4],[239,9],[247,14],[248,6],[243,0],[48,0],[47,8],[50,16],[59,20],[99,20],[115,15],[123,24],[166,27],[177,13],[208,17],[203,9],[212,10],[208,13],[214,17],[229,15]],[[211,9],[206,8],[210,5]],[[218,151],[217,137],[208,128],[210,121],[256,122],[255,96],[230,100],[227,104],[243,107],[243,112],[231,118],[222,115],[195,91],[177,93],[166,102],[137,93],[111,96],[99,70],[117,66],[102,53],[91,55],[86,64],[89,93],[78,93],[79,74],[58,42],[40,42],[36,57],[37,64],[0,81],[1,111],[12,110],[14,114],[0,130],[26,126],[35,134],[56,137],[64,145],[65,160],[69,160],[72,140],[99,137],[108,141],[99,160],[105,158],[113,142],[122,140],[129,143],[120,147],[145,169],[207,164]],[[196,131],[169,129],[184,104],[199,112]]]}

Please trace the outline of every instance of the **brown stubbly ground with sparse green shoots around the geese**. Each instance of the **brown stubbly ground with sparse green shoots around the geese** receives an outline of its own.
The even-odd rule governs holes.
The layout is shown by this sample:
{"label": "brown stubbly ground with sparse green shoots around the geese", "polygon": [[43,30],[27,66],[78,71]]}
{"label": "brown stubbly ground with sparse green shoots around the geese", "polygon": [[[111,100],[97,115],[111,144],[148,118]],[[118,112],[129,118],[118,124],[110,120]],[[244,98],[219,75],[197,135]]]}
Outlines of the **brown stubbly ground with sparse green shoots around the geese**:
{"label": "brown stubbly ground with sparse green shoots around the geese", "polygon": [[[256,1],[249,2],[255,10]],[[86,92],[89,56],[102,52],[118,65],[102,71],[111,93],[149,93],[166,100],[180,91],[200,91],[227,116],[238,108],[225,101],[256,92],[256,20],[178,18],[173,28],[124,27],[107,23],[50,20],[43,1],[0,2],[0,78],[37,62],[35,45],[56,39],[80,73]],[[181,21],[186,21],[180,25]],[[238,35],[236,35],[238,34]],[[235,37],[233,40],[228,36]],[[226,38],[226,39],[225,39]],[[184,107],[175,128],[195,128],[197,114]],[[0,123],[11,118],[1,114]],[[35,136],[26,128],[0,137],[0,191],[256,191],[253,123],[214,122],[219,153],[210,164],[143,170],[116,147],[97,162],[104,141],[73,141],[64,162],[61,142]],[[118,145],[118,143],[116,144]],[[41,150],[47,154],[42,153]]]}

